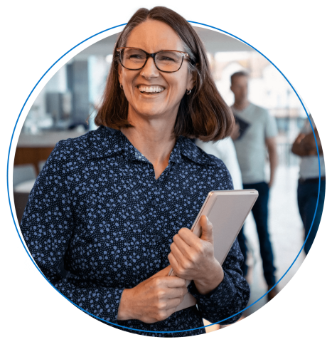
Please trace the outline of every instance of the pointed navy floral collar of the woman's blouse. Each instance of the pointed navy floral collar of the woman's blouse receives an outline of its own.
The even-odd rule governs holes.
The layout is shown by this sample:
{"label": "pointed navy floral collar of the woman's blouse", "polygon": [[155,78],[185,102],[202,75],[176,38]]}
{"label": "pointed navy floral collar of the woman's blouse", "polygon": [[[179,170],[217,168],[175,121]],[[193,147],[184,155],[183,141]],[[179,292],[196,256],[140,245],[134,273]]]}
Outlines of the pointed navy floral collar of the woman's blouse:
{"label": "pointed navy floral collar of the woman's blouse", "polygon": [[[130,160],[149,162],[144,155],[137,150],[127,137],[120,131],[100,126],[97,130],[87,135],[90,139],[89,147],[85,150],[87,159],[111,157],[112,155],[125,154]],[[202,152],[191,140],[178,137],[169,157],[170,162],[183,162],[183,157],[202,165],[217,165],[208,155]]]}

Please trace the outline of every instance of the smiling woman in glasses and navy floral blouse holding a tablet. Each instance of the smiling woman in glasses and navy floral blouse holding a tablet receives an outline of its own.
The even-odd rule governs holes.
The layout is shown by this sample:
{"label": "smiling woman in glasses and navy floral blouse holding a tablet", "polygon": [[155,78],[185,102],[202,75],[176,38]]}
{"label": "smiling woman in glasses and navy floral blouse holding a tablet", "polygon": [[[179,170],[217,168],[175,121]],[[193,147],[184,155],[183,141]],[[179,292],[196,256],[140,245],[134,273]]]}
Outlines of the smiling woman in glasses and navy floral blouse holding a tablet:
{"label": "smiling woman in glasses and navy floral blouse holding a tablet", "polygon": [[[114,48],[100,128],[58,142],[23,214],[43,274],[80,308],[144,336],[198,335],[205,329],[144,331],[194,329],[244,309],[237,241],[222,268],[208,219],[200,239],[187,229],[210,190],[232,189],[223,162],[188,138],[224,138],[233,121],[191,25],[165,7],[139,9]],[[176,311],[187,291],[198,309]]]}

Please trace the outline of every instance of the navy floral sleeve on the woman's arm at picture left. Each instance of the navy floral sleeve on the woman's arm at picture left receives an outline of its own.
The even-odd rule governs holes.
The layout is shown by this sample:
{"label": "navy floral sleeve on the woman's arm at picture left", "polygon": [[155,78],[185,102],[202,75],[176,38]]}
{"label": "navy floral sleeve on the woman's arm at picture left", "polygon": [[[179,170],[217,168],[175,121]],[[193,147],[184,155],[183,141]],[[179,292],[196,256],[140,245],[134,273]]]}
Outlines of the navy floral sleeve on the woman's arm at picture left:
{"label": "navy floral sleeve on the woman's arm at picture left", "polygon": [[[20,226],[22,237],[38,268],[58,291],[81,309],[106,321],[115,321],[124,288],[101,286],[97,279],[92,280],[93,276],[82,274],[88,262],[84,256],[71,262],[73,257],[68,254],[70,247],[72,254],[82,254],[79,244],[73,245],[72,238],[85,227],[80,226],[75,217],[82,189],[77,186],[73,189],[75,172],[70,170],[73,158],[61,145],[51,153],[31,191]],[[93,253],[95,248],[93,243],[88,244],[87,254]],[[66,269],[70,265],[65,278],[61,274],[63,262]],[[81,270],[76,267],[80,263]]]}

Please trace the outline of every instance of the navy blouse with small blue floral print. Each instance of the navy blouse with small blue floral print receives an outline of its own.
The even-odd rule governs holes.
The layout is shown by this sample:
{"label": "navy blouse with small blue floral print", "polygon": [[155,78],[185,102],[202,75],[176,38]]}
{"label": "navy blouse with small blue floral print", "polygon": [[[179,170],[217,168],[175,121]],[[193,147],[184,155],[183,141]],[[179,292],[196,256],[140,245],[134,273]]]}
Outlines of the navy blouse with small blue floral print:
{"label": "navy blouse with small blue floral print", "polygon": [[[100,126],[58,142],[33,186],[20,229],[46,278],[96,319],[143,336],[195,336],[205,333],[202,318],[216,323],[249,301],[237,240],[215,290],[201,295],[193,281],[188,286],[197,306],[148,324],[117,321],[119,301],[124,289],[168,266],[173,236],[191,228],[208,192],[231,189],[223,162],[187,138],[178,138],[156,180],[151,162],[119,130]],[[176,332],[188,329],[194,330]]]}

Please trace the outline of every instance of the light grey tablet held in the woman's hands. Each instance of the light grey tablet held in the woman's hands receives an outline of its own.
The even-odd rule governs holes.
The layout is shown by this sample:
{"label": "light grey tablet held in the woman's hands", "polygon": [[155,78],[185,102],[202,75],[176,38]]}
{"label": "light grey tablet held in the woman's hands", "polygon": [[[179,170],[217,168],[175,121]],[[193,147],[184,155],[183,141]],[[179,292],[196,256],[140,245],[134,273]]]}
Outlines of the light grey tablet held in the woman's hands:
{"label": "light grey tablet held in the woman's hands", "polygon": [[[213,224],[213,247],[215,259],[221,265],[225,261],[237,234],[245,223],[245,219],[254,206],[258,192],[255,189],[249,190],[218,190],[209,192],[198,213],[191,231],[200,237],[202,227],[200,227],[200,217],[205,215]],[[173,276],[173,269],[168,276]],[[187,286],[190,281],[187,281]],[[196,304],[191,294],[186,294],[182,303],[176,311],[186,309],[188,306]]]}

